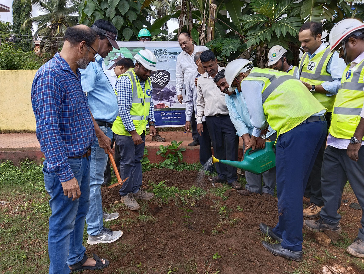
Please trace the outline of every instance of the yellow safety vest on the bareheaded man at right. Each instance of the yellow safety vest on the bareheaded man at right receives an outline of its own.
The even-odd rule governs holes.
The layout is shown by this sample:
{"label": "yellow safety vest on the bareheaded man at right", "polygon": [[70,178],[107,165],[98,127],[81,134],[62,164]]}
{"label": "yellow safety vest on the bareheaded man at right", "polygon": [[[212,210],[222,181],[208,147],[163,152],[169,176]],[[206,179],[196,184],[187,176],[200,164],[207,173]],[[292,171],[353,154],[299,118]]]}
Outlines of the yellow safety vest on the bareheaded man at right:
{"label": "yellow safety vest on the bareheaded man at right", "polygon": [[[327,64],[330,61],[333,53],[330,52],[330,47],[318,52],[310,60],[308,53],[304,53],[298,65],[300,70],[300,80],[311,85],[319,86],[324,82],[332,82],[332,76],[326,71]],[[326,96],[326,94],[316,92],[313,96],[320,102],[329,112],[335,102],[335,95]]]}

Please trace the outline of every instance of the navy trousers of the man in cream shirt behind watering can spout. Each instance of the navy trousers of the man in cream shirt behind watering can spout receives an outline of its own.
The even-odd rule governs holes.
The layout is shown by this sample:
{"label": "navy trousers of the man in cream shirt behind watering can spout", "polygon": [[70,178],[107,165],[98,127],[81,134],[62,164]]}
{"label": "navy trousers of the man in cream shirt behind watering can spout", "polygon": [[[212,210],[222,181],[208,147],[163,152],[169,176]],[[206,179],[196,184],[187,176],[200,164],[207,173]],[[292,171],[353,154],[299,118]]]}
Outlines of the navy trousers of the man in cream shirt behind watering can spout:
{"label": "navy trousers of the man in cream shirt behind watering can spout", "polygon": [[[206,125],[214,147],[214,156],[217,159],[237,161],[239,136],[235,134],[236,129],[230,116],[206,116]],[[238,180],[236,167],[216,163],[216,171],[220,179],[227,180],[228,184]]]}

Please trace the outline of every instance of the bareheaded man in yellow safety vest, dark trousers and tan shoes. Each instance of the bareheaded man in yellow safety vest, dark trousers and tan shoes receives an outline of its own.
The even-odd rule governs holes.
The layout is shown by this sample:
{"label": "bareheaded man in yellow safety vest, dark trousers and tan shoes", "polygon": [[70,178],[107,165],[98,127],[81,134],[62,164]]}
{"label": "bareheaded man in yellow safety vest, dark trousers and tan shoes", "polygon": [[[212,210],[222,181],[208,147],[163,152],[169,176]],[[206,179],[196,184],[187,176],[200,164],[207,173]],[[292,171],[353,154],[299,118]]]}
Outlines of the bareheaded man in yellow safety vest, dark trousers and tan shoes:
{"label": "bareheaded man in yellow safety vest, dark trousers and tan shoes", "polygon": [[[322,25],[317,22],[306,22],[300,28],[298,40],[305,53],[298,65],[297,78],[304,82],[307,91],[327,108],[325,118],[330,126],[332,107],[345,64],[337,52],[330,52],[330,48],[321,41],[322,30]],[[308,206],[303,211],[304,217],[316,218],[324,205],[320,179],[325,146],[326,139],[318,151],[306,186],[304,202]]]}

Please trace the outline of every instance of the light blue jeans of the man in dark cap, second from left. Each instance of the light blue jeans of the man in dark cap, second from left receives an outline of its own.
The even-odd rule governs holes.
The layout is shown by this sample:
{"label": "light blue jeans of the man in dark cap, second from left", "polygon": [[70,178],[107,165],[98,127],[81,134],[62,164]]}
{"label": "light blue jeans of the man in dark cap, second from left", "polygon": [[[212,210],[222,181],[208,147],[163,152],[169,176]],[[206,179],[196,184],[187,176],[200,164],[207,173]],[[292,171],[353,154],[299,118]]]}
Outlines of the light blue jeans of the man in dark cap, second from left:
{"label": "light blue jeans of the man in dark cap, second from left", "polygon": [[[110,127],[99,126],[104,134],[112,139]],[[102,222],[101,184],[104,182],[104,172],[107,156],[103,148],[99,147],[99,140],[91,147],[90,156],[90,210],[86,216],[87,233],[95,236],[100,234],[104,225]]]}

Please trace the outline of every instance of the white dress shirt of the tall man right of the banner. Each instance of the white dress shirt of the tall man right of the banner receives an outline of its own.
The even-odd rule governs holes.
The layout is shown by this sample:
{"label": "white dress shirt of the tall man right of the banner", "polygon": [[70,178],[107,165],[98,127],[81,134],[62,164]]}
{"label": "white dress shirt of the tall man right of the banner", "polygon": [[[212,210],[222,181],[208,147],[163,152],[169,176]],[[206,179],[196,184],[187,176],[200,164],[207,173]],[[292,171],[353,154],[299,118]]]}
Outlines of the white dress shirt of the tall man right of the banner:
{"label": "white dress shirt of the tall man right of the banner", "polygon": [[189,55],[187,52],[182,51],[177,56],[176,64],[176,93],[177,95],[182,94],[183,84],[186,85],[187,80],[192,74],[197,71],[197,65],[195,63],[195,54],[199,51],[207,51],[209,48],[205,46],[193,45],[193,53]]}

